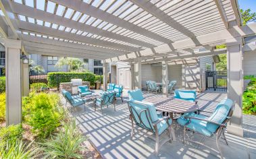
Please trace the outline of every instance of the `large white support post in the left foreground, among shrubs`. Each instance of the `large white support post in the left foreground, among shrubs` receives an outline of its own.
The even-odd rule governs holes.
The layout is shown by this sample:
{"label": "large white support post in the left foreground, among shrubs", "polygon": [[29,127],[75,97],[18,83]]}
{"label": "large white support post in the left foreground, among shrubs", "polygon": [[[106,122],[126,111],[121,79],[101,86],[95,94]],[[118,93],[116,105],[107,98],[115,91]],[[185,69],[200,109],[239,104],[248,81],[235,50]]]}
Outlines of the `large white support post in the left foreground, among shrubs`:
{"label": "large white support post in the left foreground, among shrubs", "polygon": [[22,123],[21,41],[5,39],[6,124]]}

